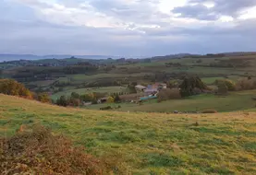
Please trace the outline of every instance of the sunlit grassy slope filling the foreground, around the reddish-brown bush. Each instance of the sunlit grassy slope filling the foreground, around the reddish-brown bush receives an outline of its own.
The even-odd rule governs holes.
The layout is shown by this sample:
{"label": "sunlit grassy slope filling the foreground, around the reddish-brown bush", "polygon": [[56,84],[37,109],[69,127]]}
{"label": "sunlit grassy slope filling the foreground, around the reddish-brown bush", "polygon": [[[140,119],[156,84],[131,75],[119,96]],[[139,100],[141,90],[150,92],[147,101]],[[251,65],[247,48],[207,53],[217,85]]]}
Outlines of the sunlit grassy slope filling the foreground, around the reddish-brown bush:
{"label": "sunlit grassy slope filling the foreground, around the reddish-brown bush", "polygon": [[0,135],[41,122],[125,174],[256,174],[256,113],[167,115],[61,108],[0,94]]}

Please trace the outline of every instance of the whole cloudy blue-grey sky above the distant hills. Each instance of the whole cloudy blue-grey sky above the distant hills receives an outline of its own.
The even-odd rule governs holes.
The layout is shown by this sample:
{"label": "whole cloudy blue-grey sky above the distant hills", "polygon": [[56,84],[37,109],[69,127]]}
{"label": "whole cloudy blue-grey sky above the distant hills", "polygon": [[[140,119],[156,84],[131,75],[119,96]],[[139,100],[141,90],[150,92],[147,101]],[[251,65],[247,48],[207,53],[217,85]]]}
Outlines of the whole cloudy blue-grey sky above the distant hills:
{"label": "whole cloudy blue-grey sky above the distant hills", "polygon": [[256,51],[256,0],[0,0],[0,52]]}

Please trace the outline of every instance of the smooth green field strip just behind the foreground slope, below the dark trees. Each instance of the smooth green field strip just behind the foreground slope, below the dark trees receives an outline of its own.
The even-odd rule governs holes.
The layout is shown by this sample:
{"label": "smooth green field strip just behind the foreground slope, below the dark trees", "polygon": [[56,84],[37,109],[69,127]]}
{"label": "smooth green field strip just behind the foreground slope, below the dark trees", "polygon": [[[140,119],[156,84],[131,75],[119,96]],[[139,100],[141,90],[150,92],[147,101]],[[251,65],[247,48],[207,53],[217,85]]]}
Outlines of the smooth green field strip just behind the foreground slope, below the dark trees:
{"label": "smooth green field strip just behind the foreground slope, below the dark trees", "polygon": [[[156,99],[144,102],[143,105],[135,103],[113,104],[115,108],[120,105],[118,111],[145,111],[145,112],[173,112],[173,111],[204,111],[213,109],[219,112],[224,111],[244,111],[255,108],[255,101],[251,99],[256,94],[256,90],[231,92],[226,97],[219,97],[212,94],[202,94],[187,99],[172,99],[158,103]],[[87,107],[92,110],[109,104],[91,105]]]}

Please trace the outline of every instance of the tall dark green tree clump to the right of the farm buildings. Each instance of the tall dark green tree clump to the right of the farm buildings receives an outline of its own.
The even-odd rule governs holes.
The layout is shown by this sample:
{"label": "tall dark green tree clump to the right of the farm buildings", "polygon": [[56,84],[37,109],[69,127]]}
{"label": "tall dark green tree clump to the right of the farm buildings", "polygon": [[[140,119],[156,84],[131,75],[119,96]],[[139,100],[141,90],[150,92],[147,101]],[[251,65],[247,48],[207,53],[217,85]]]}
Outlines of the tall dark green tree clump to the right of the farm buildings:
{"label": "tall dark green tree clump to the right of the farm buildings", "polygon": [[201,81],[198,76],[185,76],[180,87],[180,95],[182,97],[188,97],[195,95],[194,88],[199,88],[201,90],[208,89],[208,87]]}

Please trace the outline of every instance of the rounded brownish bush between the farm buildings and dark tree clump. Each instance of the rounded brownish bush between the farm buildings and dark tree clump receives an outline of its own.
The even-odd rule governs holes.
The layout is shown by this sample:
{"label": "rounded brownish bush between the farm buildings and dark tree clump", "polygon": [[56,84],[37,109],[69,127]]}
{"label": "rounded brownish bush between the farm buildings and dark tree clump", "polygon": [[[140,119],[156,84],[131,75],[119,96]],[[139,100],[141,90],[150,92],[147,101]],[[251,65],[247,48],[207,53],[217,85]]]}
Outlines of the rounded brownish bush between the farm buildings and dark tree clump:
{"label": "rounded brownish bush between the farm buildings and dark tree clump", "polygon": [[165,88],[157,94],[159,102],[167,99],[181,99],[178,88]]}

